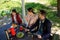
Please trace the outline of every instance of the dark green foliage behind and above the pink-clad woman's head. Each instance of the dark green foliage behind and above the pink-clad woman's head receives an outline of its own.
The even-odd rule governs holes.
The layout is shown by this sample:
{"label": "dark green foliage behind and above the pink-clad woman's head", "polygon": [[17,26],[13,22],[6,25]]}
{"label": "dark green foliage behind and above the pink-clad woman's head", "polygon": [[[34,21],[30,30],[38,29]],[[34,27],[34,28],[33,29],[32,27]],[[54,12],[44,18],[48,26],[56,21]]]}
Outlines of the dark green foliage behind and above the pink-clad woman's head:
{"label": "dark green foliage behind and above the pink-clad woman's head", "polygon": [[25,7],[26,10],[31,7],[35,10],[35,12],[38,12],[39,9],[49,9],[48,7],[40,3],[26,3]]}

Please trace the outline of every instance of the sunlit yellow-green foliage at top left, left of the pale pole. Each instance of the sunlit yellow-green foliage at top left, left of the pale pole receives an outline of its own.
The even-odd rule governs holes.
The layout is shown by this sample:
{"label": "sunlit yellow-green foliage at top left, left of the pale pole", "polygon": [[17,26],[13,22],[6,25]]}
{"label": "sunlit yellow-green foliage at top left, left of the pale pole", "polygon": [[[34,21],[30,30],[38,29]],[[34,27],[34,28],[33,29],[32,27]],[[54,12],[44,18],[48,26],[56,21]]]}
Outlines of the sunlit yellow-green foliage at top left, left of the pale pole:
{"label": "sunlit yellow-green foliage at top left, left of the pale pole", "polygon": [[0,5],[1,5],[0,6],[0,10],[1,10],[0,14],[1,14],[1,16],[10,15],[12,8],[16,8],[16,7],[21,8],[21,3],[20,2],[16,2],[16,1],[13,2],[11,0],[3,0],[3,1],[1,0]]}

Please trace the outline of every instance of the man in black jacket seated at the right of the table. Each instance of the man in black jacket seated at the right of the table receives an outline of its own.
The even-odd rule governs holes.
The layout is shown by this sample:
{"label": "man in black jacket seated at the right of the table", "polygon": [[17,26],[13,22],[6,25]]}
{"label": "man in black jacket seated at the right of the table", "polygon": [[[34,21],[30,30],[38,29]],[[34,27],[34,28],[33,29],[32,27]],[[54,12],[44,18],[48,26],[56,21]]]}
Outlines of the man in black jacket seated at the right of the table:
{"label": "man in black jacket seated at the right of the table", "polygon": [[38,16],[39,18],[36,24],[39,24],[37,25],[39,28],[36,32],[36,35],[39,40],[47,40],[50,37],[52,23],[46,18],[46,12],[44,10],[40,10]]}

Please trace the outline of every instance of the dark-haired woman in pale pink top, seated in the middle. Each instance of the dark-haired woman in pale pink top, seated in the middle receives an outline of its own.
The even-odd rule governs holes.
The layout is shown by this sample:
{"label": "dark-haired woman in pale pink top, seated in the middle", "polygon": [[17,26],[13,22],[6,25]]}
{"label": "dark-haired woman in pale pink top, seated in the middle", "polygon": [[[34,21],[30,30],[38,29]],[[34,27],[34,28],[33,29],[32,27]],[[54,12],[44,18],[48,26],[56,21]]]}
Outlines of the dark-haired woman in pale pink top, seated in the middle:
{"label": "dark-haired woman in pale pink top, seated in the middle", "polygon": [[37,19],[38,19],[38,16],[34,14],[33,9],[28,8],[28,12],[26,15],[26,21],[28,23],[28,26],[32,26]]}

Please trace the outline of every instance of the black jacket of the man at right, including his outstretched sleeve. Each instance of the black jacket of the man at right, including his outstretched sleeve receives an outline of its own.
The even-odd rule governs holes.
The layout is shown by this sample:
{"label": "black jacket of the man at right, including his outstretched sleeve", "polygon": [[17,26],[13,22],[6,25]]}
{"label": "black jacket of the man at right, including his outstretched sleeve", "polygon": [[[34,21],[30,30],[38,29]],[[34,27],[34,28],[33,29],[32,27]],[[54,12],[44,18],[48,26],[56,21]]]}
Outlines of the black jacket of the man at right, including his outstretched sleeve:
{"label": "black jacket of the man at right, including his outstretched sleeve", "polygon": [[[41,31],[40,28],[42,28],[43,31],[42,31],[42,34],[41,34],[41,35],[42,35],[43,37],[48,37],[48,36],[50,36],[52,23],[51,23],[47,18],[45,19],[44,23],[39,24],[39,21],[40,21],[40,19],[38,19],[38,20],[36,21],[36,23],[31,26],[30,30],[32,30],[32,29],[34,29],[35,27],[37,27],[36,30],[31,31],[31,32],[34,33],[34,32],[37,32],[37,31]],[[40,25],[40,26],[39,26],[39,25]]]}

